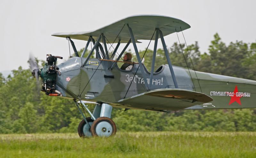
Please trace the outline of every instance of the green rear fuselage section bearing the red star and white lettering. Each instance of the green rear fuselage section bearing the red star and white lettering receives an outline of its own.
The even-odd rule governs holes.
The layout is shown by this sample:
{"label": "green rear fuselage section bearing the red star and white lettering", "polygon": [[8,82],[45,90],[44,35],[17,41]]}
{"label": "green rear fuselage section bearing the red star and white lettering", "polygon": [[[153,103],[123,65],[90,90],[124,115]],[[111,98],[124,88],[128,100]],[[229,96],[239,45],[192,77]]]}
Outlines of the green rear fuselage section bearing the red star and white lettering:
{"label": "green rear fuselage section bearing the red star and white lettering", "polygon": [[197,75],[202,92],[213,101],[186,109],[256,108],[256,81],[203,72]]}

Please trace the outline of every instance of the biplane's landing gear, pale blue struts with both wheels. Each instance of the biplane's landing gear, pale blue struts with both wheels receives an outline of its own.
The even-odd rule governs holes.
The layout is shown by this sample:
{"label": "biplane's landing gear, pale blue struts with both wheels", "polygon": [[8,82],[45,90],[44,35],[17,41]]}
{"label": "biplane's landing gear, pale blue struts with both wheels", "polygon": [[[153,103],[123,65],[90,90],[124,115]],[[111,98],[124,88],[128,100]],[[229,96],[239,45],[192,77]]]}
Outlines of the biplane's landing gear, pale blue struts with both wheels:
{"label": "biplane's landing gear, pale blue struts with both wheels", "polygon": [[110,119],[112,112],[111,105],[97,104],[93,113],[91,113],[87,108],[87,105],[81,101],[83,107],[91,115],[91,117],[86,118],[80,109],[79,104],[76,101],[75,103],[84,118],[78,126],[79,137],[109,137],[116,134],[116,124],[112,119]]}

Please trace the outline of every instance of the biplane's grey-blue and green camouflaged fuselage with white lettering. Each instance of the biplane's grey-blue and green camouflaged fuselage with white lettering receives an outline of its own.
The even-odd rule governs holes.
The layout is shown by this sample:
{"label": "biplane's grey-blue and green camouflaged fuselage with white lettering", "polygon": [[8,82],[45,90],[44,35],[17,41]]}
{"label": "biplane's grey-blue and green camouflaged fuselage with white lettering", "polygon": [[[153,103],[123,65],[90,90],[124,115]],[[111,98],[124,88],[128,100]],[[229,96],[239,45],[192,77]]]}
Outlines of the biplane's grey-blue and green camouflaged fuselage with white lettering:
{"label": "biplane's grey-blue and green camouflaged fuselage with white lettering", "polygon": [[[120,99],[146,92],[145,82],[148,82],[149,90],[175,88],[168,65],[162,65],[150,82],[150,73],[145,67],[147,81],[143,79],[140,68],[136,73],[136,64],[131,71],[124,71],[117,66],[109,69],[113,62],[99,59],[90,59],[82,66],[84,60],[85,58],[73,57],[58,66],[62,75],[57,77],[56,90],[59,90],[63,97],[133,108],[115,103]],[[202,92],[213,98],[212,102],[187,109],[256,107],[256,81],[192,70],[190,76],[188,69],[176,66],[173,66],[173,70],[179,89]]]}

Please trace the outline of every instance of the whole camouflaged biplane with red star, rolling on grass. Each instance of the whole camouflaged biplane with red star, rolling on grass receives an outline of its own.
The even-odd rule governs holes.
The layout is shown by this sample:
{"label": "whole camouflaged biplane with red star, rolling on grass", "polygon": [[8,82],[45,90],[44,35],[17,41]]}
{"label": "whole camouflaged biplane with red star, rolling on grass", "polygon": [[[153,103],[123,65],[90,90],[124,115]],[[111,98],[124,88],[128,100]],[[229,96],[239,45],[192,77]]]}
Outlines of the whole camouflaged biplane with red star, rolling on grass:
{"label": "whole camouflaged biplane with red star, rolling on grass", "polygon": [[[35,66],[32,75],[37,79],[41,77],[42,91],[46,95],[74,100],[84,118],[78,126],[80,137],[115,135],[116,125],[111,119],[113,107],[162,112],[255,108],[255,81],[172,65],[164,36],[188,28],[190,25],[176,18],[137,15],[93,31],[54,33],[52,36],[70,41],[75,56],[57,66],[57,59],[62,57],[47,54],[44,67],[39,70]],[[87,41],[81,56],[72,39]],[[158,39],[168,64],[154,71]],[[154,40],[150,70],[144,66],[138,52],[139,40]],[[93,47],[87,50],[90,43]],[[110,52],[107,44],[113,43],[116,47]],[[121,44],[124,48],[120,50]],[[132,63],[129,70],[123,70],[117,62],[130,44],[138,62]],[[89,51],[87,56],[86,51]],[[95,57],[93,52],[96,52]],[[92,112],[87,103],[96,104]],[[90,117],[85,117],[85,111]]]}

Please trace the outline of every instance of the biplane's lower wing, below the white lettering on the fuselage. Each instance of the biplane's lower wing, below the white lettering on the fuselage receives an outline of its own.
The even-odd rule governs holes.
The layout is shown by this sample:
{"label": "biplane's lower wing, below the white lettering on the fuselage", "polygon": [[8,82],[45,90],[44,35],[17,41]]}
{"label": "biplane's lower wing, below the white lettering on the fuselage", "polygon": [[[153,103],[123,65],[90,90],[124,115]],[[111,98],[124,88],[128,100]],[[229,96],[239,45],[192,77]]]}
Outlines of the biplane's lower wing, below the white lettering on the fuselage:
{"label": "biplane's lower wing, below the white lettering on the fuselage", "polygon": [[121,99],[113,105],[144,110],[180,110],[197,104],[211,102],[212,98],[191,90],[157,89]]}

